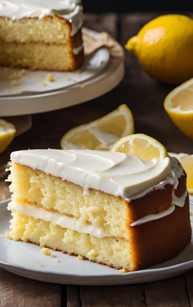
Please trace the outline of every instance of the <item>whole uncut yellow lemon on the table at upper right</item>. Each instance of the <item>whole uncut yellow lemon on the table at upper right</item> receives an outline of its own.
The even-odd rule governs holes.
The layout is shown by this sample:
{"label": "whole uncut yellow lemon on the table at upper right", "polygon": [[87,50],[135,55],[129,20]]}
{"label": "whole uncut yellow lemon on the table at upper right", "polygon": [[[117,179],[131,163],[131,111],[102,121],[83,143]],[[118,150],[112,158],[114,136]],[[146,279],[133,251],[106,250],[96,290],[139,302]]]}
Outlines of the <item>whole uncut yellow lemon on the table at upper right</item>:
{"label": "whole uncut yellow lemon on the table at upper right", "polygon": [[181,84],[193,77],[193,19],[168,14],[149,21],[125,48],[158,81]]}

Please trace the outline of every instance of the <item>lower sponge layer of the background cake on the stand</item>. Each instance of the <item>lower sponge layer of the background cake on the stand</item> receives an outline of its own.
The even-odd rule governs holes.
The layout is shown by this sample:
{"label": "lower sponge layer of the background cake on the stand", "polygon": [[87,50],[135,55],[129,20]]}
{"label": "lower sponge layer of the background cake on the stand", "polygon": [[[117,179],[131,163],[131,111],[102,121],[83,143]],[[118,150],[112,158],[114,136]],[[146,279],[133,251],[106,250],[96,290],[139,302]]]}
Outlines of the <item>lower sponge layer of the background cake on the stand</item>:
{"label": "lower sponge layer of the background cake on the stand", "polygon": [[73,54],[70,44],[0,42],[0,65],[32,70],[74,71],[84,59],[83,50]]}

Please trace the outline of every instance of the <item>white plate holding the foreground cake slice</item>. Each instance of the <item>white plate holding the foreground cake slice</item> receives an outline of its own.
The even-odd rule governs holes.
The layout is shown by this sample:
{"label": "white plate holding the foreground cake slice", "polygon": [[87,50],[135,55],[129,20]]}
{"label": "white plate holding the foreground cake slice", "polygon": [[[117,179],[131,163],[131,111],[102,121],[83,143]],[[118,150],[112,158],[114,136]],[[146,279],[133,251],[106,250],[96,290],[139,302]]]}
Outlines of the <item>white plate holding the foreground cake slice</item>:
{"label": "white plate holding the foreground cake slice", "polygon": [[[9,229],[11,215],[6,209],[9,201],[10,199],[0,202],[0,234],[4,234]],[[190,196],[190,207],[193,210],[193,196]],[[191,216],[191,225],[193,227],[193,216]],[[41,247],[38,245],[0,238],[0,266],[24,277],[70,285],[107,286],[153,282],[191,270],[193,268],[192,243],[189,243],[186,249],[174,259],[141,271],[120,274],[119,270],[96,262],[77,260],[76,256],[62,254],[59,251],[52,251],[55,258],[51,258],[41,254]],[[57,259],[59,262],[56,262]],[[36,264],[38,261],[43,266]]]}

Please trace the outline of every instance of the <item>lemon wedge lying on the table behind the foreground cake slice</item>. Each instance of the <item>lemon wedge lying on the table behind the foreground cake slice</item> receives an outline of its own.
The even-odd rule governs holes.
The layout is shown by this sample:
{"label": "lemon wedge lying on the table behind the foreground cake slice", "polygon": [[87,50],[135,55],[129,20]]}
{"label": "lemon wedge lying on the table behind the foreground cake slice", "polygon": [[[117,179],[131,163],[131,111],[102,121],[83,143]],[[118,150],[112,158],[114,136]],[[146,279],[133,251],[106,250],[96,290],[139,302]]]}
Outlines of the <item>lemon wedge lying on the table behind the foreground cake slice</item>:
{"label": "lemon wedge lying on the table behind the foreground cake slice", "polygon": [[62,149],[109,150],[119,138],[134,133],[134,119],[126,104],[111,113],[69,130],[60,141]]}

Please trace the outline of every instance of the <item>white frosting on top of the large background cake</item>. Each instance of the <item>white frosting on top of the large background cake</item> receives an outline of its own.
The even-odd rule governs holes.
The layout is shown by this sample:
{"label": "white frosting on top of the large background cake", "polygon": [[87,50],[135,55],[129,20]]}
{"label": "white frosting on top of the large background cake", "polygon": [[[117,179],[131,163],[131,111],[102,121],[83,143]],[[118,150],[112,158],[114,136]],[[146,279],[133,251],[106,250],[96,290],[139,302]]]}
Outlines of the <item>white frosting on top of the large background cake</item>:
{"label": "white frosting on top of the large background cake", "polygon": [[71,36],[82,27],[84,15],[81,0],[0,0],[0,16],[12,20],[25,17],[42,19],[54,14],[72,24]]}

